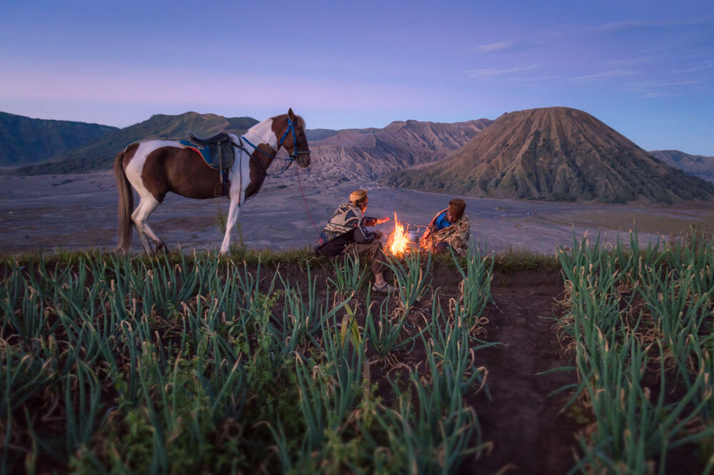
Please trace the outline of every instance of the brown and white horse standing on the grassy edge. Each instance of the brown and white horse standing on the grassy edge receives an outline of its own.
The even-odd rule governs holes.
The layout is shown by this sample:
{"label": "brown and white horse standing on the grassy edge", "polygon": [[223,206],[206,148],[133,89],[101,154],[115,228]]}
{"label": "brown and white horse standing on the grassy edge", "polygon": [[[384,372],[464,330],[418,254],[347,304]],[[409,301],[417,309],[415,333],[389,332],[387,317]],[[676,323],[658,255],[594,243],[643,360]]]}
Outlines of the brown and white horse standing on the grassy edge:
{"label": "brown and white horse standing on the grassy edge", "polygon": [[[226,235],[221,254],[231,246],[231,233],[241,215],[247,198],[258,193],[268,167],[281,147],[291,154],[298,165],[310,165],[310,149],[305,135],[305,121],[290,109],[287,114],[266,119],[238,138],[229,133],[236,152],[236,160],[228,171],[228,195],[231,205],[226,221]],[[164,201],[169,191],[186,198],[205,200],[216,198],[221,186],[218,170],[206,165],[201,155],[176,141],[150,140],[133,143],[114,160],[114,178],[119,188],[119,246],[118,251],[131,249],[131,223],[136,226],[139,240],[146,253],[151,254],[147,236],[154,241],[155,250],[165,250],[164,241],[149,228],[146,220]],[[139,193],[139,206],[134,208],[134,193]]]}

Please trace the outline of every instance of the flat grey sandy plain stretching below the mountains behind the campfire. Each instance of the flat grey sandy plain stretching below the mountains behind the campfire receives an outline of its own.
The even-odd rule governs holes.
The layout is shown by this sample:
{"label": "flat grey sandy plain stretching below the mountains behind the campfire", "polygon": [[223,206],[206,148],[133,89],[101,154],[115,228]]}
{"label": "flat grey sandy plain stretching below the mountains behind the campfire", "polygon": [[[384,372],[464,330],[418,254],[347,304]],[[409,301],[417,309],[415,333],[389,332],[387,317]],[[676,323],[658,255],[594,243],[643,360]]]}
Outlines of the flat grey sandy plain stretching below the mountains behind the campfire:
{"label": "flat grey sandy plain stretching below the mountains behind the campfire", "polygon": [[[263,190],[249,200],[234,242],[248,248],[272,250],[311,245],[317,236],[303,203],[303,195],[289,170],[284,178],[268,177]],[[292,177],[292,179],[291,179]],[[303,178],[304,179],[304,178]],[[426,224],[446,208],[451,195],[416,190],[377,188],[373,183],[325,183],[309,177],[303,182],[307,205],[318,229],[331,217],[350,190],[370,188],[367,215],[389,216],[378,226],[393,230],[400,221]],[[471,235],[487,250],[524,249],[554,252],[568,247],[587,231],[606,242],[628,240],[637,228],[640,245],[686,233],[691,225],[714,232],[714,203],[678,205],[603,205],[545,203],[533,200],[493,200],[463,197],[471,218]],[[228,200],[191,200],[169,194],[149,224],[169,247],[216,249],[223,235],[219,215],[227,215]],[[111,172],[81,175],[0,176],[0,251],[111,250],[117,242],[117,193]],[[134,251],[141,245],[134,233]]]}

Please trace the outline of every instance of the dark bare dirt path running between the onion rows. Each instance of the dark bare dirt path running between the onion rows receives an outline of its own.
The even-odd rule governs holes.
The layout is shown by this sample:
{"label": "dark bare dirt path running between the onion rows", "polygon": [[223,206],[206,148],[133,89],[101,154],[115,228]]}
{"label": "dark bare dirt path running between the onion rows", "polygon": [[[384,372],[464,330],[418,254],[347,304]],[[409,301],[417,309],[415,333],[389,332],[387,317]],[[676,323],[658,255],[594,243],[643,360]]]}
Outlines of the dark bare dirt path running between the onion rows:
{"label": "dark bare dirt path running between the onion rows", "polygon": [[573,467],[575,431],[573,419],[558,411],[566,394],[546,398],[548,393],[574,382],[574,372],[555,372],[565,366],[560,359],[553,320],[554,299],[563,292],[558,272],[516,272],[495,275],[491,287],[501,312],[489,310],[492,330],[488,341],[502,347],[476,354],[478,364],[488,368],[492,400],[483,394],[470,402],[476,408],[483,439],[493,443],[490,456],[468,460],[464,474],[563,474]]}

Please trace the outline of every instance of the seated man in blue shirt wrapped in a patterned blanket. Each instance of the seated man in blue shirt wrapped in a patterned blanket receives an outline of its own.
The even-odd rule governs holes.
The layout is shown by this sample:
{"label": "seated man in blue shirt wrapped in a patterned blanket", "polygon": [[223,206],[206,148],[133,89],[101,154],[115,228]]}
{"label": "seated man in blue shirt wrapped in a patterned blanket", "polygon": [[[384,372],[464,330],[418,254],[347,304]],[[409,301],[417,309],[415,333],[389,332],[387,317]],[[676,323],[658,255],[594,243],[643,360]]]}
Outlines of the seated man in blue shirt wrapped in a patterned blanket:
{"label": "seated man in blue shirt wrapped in a patterned blanket", "polygon": [[451,247],[457,255],[465,256],[468,252],[468,237],[471,224],[463,211],[466,203],[459,198],[448,202],[446,210],[434,216],[428,228],[419,240],[419,246],[431,252],[448,252]]}

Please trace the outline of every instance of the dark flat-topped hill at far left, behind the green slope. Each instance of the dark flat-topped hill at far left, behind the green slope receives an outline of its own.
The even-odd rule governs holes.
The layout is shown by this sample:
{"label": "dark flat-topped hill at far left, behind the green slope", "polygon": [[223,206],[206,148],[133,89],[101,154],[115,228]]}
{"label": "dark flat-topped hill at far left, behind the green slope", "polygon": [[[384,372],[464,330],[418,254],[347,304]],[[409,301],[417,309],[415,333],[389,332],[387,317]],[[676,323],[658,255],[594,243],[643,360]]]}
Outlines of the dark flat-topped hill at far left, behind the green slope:
{"label": "dark flat-topped hill at far left, behind the green slope", "polygon": [[0,166],[29,165],[96,141],[116,127],[0,112]]}

